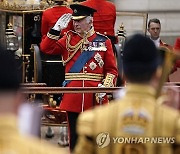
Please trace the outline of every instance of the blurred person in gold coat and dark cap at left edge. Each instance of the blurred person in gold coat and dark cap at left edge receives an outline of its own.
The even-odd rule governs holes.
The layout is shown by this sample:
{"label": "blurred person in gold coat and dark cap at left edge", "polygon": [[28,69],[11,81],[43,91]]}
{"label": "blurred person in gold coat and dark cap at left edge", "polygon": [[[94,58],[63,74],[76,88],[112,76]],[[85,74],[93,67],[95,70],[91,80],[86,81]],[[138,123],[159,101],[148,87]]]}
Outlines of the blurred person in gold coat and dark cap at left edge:
{"label": "blurred person in gold coat and dark cap at left edge", "polygon": [[37,138],[21,136],[17,112],[22,104],[13,55],[0,47],[0,154],[65,154]]}

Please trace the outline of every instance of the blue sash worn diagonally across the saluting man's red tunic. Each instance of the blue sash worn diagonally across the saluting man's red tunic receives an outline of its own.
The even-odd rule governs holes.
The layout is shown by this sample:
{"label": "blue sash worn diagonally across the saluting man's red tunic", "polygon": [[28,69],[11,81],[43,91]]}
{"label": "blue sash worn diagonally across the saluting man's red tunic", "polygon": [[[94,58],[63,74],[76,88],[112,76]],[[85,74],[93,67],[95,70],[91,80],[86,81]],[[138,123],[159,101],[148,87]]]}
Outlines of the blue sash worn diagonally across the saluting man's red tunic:
{"label": "blue sash worn diagonally across the saluting man's red tunic", "polygon": [[[92,42],[96,42],[96,41],[102,42],[105,41],[105,39],[106,39],[105,37],[102,37],[101,35],[97,35]],[[76,60],[76,62],[73,64],[73,66],[70,68],[68,73],[79,73],[84,67],[84,65],[92,58],[94,53],[95,51],[89,51],[89,50],[83,51]],[[65,87],[69,82],[71,82],[71,80],[64,80],[62,86]]]}

